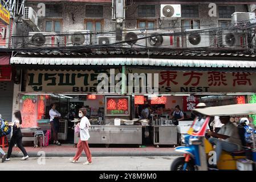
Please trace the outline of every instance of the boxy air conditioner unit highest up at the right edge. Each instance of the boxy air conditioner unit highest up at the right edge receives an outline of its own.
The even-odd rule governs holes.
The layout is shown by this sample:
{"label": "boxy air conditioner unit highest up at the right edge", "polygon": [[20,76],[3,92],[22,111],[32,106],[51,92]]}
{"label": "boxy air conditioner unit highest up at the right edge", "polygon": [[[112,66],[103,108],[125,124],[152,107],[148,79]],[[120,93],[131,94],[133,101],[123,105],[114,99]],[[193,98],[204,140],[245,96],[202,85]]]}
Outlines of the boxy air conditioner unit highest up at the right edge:
{"label": "boxy air conditioner unit highest up at the right edge", "polygon": [[255,13],[245,13],[245,12],[235,12],[231,15],[232,17],[232,24],[238,23],[256,23]]}

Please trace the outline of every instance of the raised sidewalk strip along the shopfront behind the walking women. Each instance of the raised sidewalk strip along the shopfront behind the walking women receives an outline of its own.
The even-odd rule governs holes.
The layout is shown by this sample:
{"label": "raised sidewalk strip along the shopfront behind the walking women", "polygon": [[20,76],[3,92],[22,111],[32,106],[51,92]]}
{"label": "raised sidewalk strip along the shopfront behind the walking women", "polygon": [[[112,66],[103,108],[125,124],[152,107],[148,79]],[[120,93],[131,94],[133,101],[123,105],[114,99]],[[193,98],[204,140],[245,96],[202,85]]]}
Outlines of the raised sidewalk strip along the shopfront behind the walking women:
{"label": "raised sidewalk strip along the shopfront behind the walking women", "polygon": [[[62,144],[62,146],[49,145],[47,147],[26,147],[27,153],[31,157],[38,157],[42,155],[39,151],[44,151],[46,157],[71,157],[75,156],[76,148],[74,144]],[[8,148],[5,148],[4,151],[7,152]],[[174,148],[170,147],[161,147],[156,148],[155,146],[147,146],[145,148],[140,148],[135,146],[132,147],[123,147],[110,145],[109,148],[106,148],[104,145],[100,147],[91,146],[90,150],[92,156],[181,156],[182,154],[174,151]],[[39,153],[38,153],[39,152]],[[39,154],[39,155],[38,155]],[[13,157],[22,157],[23,154],[18,147],[13,148]]]}

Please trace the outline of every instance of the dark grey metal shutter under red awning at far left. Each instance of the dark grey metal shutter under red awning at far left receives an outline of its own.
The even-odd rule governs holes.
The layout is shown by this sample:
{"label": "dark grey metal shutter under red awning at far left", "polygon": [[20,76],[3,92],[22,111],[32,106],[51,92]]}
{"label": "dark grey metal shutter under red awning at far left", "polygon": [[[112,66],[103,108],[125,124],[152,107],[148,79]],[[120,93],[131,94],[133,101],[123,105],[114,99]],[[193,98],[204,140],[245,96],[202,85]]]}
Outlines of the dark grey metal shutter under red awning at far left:
{"label": "dark grey metal shutter under red awning at far left", "polygon": [[13,116],[13,88],[11,81],[0,82],[0,114],[7,121],[11,121]]}

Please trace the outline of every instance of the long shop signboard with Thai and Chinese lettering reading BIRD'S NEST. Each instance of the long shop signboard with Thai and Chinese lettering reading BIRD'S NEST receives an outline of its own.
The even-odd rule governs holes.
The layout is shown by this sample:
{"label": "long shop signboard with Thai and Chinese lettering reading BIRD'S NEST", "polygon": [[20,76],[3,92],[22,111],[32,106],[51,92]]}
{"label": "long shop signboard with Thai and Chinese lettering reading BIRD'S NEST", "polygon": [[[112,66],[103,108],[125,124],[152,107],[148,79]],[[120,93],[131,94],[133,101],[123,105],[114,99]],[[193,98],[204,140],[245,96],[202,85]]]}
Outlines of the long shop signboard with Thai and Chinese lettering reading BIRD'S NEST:
{"label": "long shop signboard with Thai and Chinese lettering reading BIRD'S NEST", "polygon": [[[120,73],[119,69],[114,69],[114,71],[116,75],[117,73]],[[99,85],[102,82],[102,80],[97,80],[97,76],[100,73],[106,73],[107,75],[109,75],[110,70],[28,70],[27,76],[25,77],[27,78],[26,92],[97,93],[97,85]],[[256,90],[256,73],[249,72],[178,72],[157,71],[153,69],[127,69],[126,75],[131,73],[137,73],[139,75],[141,73],[157,73],[159,75],[159,93],[162,94],[230,92],[235,93],[255,92]],[[115,84],[117,84],[118,82],[120,82],[120,80],[116,80]],[[126,89],[125,93],[128,93],[128,89]]]}

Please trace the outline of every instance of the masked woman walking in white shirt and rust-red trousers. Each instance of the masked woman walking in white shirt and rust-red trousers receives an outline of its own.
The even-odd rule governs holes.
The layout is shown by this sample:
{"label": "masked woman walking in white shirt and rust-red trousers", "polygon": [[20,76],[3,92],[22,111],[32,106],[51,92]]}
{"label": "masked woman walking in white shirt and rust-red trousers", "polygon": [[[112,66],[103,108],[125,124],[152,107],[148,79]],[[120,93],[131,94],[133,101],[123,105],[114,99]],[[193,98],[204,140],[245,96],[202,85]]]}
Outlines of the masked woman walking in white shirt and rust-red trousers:
{"label": "masked woman walking in white shirt and rust-red trousers", "polygon": [[86,117],[86,108],[79,109],[79,117],[81,117],[82,119],[80,123],[78,123],[78,126],[80,128],[78,150],[76,151],[76,155],[74,156],[74,158],[71,160],[73,163],[76,163],[84,150],[84,152],[86,152],[87,162],[83,164],[90,165],[92,164],[92,155],[90,148],[88,146],[88,139],[90,138],[89,127],[91,126],[91,124],[88,118]]}

